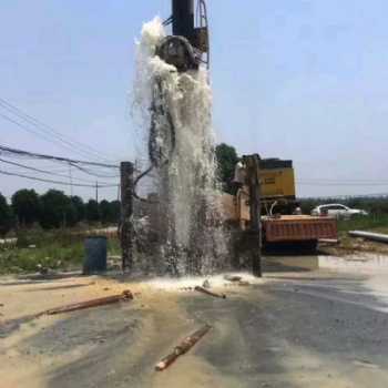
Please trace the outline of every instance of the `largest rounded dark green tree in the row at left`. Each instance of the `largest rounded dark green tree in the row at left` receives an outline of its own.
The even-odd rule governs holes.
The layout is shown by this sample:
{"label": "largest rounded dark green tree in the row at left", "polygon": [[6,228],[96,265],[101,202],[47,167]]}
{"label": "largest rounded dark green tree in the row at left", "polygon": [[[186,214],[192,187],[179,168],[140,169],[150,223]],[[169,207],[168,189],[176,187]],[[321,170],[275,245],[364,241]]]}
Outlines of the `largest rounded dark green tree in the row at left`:
{"label": "largest rounded dark green tree in the row at left", "polygon": [[44,229],[72,226],[76,223],[76,208],[59,190],[49,190],[41,196],[39,223]]}

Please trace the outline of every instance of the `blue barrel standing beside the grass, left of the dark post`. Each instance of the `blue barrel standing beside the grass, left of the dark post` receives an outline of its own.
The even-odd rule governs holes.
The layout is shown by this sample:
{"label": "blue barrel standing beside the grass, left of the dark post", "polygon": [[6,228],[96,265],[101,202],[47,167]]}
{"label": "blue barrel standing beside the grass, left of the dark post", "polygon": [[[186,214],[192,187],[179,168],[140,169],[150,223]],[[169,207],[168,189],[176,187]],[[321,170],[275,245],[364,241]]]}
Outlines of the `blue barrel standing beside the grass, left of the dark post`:
{"label": "blue barrel standing beside the grass, left of the dark post", "polygon": [[82,273],[94,274],[106,270],[106,236],[85,237]]}

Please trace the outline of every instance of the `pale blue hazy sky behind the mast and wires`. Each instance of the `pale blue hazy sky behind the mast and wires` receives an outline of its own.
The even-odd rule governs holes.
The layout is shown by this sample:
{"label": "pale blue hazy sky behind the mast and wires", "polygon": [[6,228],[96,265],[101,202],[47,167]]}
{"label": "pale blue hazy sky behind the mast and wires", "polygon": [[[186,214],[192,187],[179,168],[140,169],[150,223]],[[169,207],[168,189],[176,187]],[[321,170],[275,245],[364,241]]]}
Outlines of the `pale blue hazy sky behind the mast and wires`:
{"label": "pale blue hazy sky behind the mast and wires", "polygon": [[[388,193],[388,2],[207,0],[207,9],[217,141],[239,155],[293,160],[300,197]],[[100,160],[133,160],[135,38],[144,21],[170,13],[170,0],[2,0],[0,99]],[[23,123],[3,105],[0,114]],[[60,147],[1,115],[0,144],[91,160],[85,149]],[[47,161],[7,160],[69,175]],[[0,171],[69,182],[3,162]],[[72,171],[73,182],[119,183],[116,170],[93,171],[110,176]],[[0,175],[8,198],[24,187],[71,194],[69,185]],[[73,194],[88,200],[95,188],[73,186]],[[99,200],[116,197],[118,187],[99,190]]]}

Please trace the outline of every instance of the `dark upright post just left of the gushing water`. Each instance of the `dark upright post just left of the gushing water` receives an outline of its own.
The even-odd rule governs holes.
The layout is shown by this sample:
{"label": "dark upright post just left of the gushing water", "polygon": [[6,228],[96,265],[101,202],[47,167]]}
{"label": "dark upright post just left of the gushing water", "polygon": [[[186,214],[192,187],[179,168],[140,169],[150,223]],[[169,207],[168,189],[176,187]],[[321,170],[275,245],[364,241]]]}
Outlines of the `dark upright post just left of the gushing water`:
{"label": "dark upright post just left of the gushing water", "polygon": [[133,265],[133,198],[134,198],[134,166],[131,162],[120,164],[121,215],[120,239],[122,252],[122,269],[131,270]]}

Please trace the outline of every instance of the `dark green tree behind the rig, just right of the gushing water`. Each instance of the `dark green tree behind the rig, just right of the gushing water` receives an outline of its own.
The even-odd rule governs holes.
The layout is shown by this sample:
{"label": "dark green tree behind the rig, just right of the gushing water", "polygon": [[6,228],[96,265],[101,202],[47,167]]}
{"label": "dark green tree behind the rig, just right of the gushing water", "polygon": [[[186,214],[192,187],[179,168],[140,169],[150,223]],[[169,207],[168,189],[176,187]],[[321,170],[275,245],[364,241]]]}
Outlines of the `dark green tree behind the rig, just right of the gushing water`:
{"label": "dark green tree behind the rig, just right of the gushing water", "polygon": [[223,191],[232,194],[234,170],[239,161],[239,157],[237,156],[235,147],[225,143],[218,144],[215,153],[218,164],[218,177],[223,185]]}

